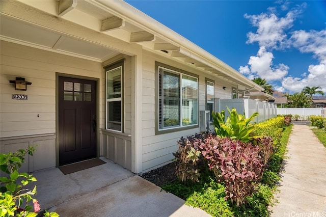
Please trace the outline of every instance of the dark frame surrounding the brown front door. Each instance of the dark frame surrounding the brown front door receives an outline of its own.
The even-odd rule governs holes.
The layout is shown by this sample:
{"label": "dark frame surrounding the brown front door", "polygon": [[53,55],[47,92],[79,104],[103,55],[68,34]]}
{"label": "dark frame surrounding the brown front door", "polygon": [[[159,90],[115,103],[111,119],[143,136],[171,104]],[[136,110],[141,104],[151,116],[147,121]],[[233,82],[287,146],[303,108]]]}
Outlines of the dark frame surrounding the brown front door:
{"label": "dark frame surrounding the brown front door", "polygon": [[96,156],[100,156],[100,117],[99,117],[99,80],[96,77],[87,77],[80,75],[72,75],[56,72],[56,167],[59,167],[59,77],[69,77],[85,80],[93,80],[96,82]]}

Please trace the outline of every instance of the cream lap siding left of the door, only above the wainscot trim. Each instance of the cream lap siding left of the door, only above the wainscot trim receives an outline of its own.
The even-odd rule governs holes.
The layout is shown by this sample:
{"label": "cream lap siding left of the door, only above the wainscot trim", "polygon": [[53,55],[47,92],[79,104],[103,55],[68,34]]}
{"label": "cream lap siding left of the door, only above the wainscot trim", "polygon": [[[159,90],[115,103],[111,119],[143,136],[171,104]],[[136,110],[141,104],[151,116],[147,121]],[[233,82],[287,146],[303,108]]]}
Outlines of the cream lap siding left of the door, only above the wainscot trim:
{"label": "cream lap siding left of the door, only above the wainscot trim", "polygon": [[[99,78],[101,64],[1,41],[1,138],[56,132],[56,72]],[[27,91],[9,83],[20,76],[32,82]]]}

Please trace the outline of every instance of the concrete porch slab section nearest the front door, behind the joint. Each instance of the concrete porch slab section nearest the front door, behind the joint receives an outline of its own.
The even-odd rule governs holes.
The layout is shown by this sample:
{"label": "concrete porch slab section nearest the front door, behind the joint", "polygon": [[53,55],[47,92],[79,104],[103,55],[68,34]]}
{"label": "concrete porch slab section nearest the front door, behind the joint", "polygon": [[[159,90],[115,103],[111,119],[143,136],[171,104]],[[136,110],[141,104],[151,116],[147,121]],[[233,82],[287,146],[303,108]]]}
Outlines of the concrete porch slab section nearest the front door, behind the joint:
{"label": "concrete porch slab section nearest the front door, behind the joint", "polygon": [[41,208],[56,206],[134,175],[111,160],[101,159],[106,164],[67,175],[58,168],[34,172],[33,175],[37,178],[35,198]]}

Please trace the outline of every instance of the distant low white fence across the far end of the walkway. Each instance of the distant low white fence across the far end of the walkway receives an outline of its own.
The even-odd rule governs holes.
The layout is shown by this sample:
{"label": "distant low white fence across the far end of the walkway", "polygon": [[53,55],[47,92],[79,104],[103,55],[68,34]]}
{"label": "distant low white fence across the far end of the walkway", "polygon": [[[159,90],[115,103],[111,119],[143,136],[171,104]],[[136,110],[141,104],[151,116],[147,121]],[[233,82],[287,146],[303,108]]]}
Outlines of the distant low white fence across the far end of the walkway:
{"label": "distant low white fence across the far end of the walkway", "polygon": [[309,120],[311,115],[326,117],[326,108],[277,108],[279,115],[298,115],[300,120]]}

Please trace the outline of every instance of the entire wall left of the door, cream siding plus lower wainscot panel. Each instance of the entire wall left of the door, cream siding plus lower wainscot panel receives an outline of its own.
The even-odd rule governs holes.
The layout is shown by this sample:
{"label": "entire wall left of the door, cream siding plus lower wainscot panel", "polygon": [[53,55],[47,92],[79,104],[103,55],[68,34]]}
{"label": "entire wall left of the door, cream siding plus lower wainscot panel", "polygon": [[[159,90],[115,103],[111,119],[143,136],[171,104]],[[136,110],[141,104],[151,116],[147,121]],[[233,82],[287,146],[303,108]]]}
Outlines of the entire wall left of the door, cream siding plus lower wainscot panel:
{"label": "entire wall left of the door, cream siding plus lower wainscot panel", "polygon": [[[101,64],[1,41],[1,152],[38,145],[26,159],[26,172],[56,166],[56,72],[100,78]],[[27,91],[9,83],[20,76],[32,82]],[[27,94],[28,100],[13,100],[14,93]]]}

